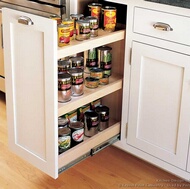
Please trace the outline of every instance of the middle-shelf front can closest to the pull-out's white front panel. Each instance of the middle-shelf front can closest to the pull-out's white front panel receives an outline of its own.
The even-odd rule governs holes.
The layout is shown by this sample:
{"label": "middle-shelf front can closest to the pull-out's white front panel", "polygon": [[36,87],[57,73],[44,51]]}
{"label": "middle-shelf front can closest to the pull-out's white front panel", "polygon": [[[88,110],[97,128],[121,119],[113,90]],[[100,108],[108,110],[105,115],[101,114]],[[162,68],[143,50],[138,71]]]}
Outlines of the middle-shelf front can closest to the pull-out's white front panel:
{"label": "middle-shelf front can closest to the pull-out's white front panel", "polygon": [[68,73],[58,74],[58,101],[68,102],[71,100],[71,75]]}

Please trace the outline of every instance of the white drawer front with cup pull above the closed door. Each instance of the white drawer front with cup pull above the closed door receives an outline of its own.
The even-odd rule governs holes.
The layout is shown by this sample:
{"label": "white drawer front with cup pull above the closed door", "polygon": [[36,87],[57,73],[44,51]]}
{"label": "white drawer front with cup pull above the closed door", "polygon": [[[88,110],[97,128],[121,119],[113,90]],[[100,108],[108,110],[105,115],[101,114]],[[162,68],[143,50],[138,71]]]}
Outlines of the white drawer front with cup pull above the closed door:
{"label": "white drawer front with cup pull above the closed door", "polygon": [[[172,31],[154,28],[156,23],[168,24]],[[167,41],[190,45],[190,17],[135,7],[133,31]]]}

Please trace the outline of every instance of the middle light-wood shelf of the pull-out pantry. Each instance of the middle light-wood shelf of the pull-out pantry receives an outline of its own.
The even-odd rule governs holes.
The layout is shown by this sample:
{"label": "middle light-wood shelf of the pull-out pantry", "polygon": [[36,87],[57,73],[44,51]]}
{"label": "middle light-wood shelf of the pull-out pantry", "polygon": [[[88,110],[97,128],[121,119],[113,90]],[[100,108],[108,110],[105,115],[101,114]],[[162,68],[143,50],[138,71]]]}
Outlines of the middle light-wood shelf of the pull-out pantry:
{"label": "middle light-wood shelf of the pull-out pantry", "polygon": [[110,76],[108,85],[100,85],[95,89],[84,87],[83,95],[79,97],[72,97],[71,101],[67,103],[58,103],[58,116],[75,110],[80,106],[111,94],[119,89],[122,89],[122,76],[118,75]]}

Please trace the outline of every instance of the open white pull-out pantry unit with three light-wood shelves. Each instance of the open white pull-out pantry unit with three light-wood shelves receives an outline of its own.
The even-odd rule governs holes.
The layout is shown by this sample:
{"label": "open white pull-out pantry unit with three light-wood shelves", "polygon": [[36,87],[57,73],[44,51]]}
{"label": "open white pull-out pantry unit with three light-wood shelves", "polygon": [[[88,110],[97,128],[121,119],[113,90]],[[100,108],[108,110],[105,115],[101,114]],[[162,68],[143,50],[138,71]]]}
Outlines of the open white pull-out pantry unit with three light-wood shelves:
{"label": "open white pull-out pantry unit with three light-wood shelves", "polygon": [[[33,24],[19,23],[22,17]],[[119,139],[124,67],[120,49],[124,49],[125,31],[100,30],[97,38],[58,48],[54,20],[3,8],[3,23],[9,147],[57,178],[58,173]],[[82,96],[58,103],[57,60],[105,44],[113,48],[109,84],[85,88]],[[58,155],[58,117],[99,98],[110,107],[109,128]]]}

